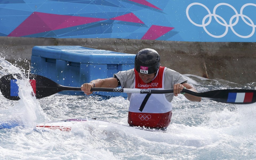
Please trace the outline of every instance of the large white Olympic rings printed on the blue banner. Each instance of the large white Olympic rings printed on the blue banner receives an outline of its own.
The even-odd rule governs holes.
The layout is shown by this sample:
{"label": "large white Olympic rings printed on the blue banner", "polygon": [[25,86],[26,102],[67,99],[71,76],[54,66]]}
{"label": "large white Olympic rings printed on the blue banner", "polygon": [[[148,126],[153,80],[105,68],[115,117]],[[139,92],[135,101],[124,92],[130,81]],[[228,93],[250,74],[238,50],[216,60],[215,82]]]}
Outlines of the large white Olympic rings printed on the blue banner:
{"label": "large white Olympic rings printed on the blue banner", "polygon": [[[208,12],[208,14],[202,19],[202,24],[197,24],[197,23],[195,23],[195,22],[192,21],[192,19],[189,17],[189,9],[190,9],[190,7],[192,7],[192,6],[194,6],[194,5],[202,6],[202,7],[204,7],[204,8],[206,9],[206,11]],[[233,15],[233,16],[229,19],[229,23],[226,22],[225,19],[222,18],[220,15],[216,14],[217,8],[218,8],[219,6],[222,6],[222,5],[224,5],[224,6],[229,6],[229,7],[230,7],[231,9],[233,9],[234,12],[235,12],[235,15]],[[214,37],[214,38],[222,38],[222,37],[224,37],[224,36],[227,34],[227,32],[228,32],[228,30],[229,30],[229,27],[230,27],[230,29],[233,31],[233,33],[234,33],[235,35],[237,35],[238,37],[241,37],[241,38],[250,38],[250,37],[253,36],[254,33],[255,33],[255,27],[256,27],[256,25],[253,23],[253,21],[251,20],[251,18],[249,18],[248,16],[246,16],[246,15],[243,14],[243,9],[245,9],[245,7],[247,7],[247,6],[255,6],[255,7],[256,7],[256,4],[254,4],[254,3],[246,3],[245,5],[243,5],[243,6],[241,7],[241,9],[240,9],[240,14],[238,14],[237,10],[236,10],[233,6],[231,6],[230,4],[228,4],[228,3],[219,3],[219,4],[217,4],[217,5],[214,7],[213,13],[211,13],[211,11],[210,11],[205,5],[203,5],[202,3],[197,3],[197,2],[195,2],[195,3],[191,3],[190,5],[187,6],[186,15],[187,15],[187,18],[189,19],[189,21],[190,21],[193,25],[198,26],[198,27],[203,27],[203,29],[205,30],[205,32],[206,32],[208,35],[210,35],[211,37]],[[209,17],[209,20],[208,20],[208,22],[205,23],[205,21],[206,21],[206,19],[207,19],[208,17]],[[215,19],[220,25],[222,25],[222,26],[224,26],[224,27],[226,28],[226,29],[225,29],[225,32],[224,32],[222,35],[213,35],[213,34],[211,34],[211,33],[206,29],[206,26],[208,26],[208,25],[211,23],[212,17],[214,17],[214,19]],[[251,32],[249,35],[240,35],[240,34],[238,34],[238,33],[234,30],[233,27],[234,27],[235,25],[237,25],[237,23],[238,23],[238,21],[239,21],[239,17],[241,17],[242,20],[243,20],[243,22],[245,22],[248,26],[251,26],[251,27],[253,28],[253,29],[252,29],[252,32]],[[219,21],[218,18],[221,19],[222,22]],[[249,23],[248,21],[246,21],[245,18],[246,18],[250,23]],[[235,19],[235,22],[233,22],[234,19]],[[233,23],[232,23],[232,22],[233,22]]]}

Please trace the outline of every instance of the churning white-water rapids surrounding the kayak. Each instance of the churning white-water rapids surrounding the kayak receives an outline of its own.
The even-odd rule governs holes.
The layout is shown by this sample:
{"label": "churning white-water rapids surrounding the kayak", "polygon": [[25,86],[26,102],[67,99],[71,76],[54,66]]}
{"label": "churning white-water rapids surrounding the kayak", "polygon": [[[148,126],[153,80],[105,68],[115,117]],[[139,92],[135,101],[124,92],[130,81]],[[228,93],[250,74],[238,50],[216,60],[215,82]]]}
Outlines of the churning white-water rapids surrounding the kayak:
{"label": "churning white-water rapids surrounding the kayak", "polygon": [[[1,76],[22,73],[0,61]],[[37,100],[31,96],[27,79],[19,80],[18,85],[21,100],[10,101],[0,95],[0,120],[16,118],[24,125],[0,130],[0,159],[256,158],[255,104],[226,105],[205,99],[193,103],[181,95],[174,99],[172,123],[166,132],[138,131],[114,123],[80,124],[70,132],[34,130],[36,123],[49,121],[47,117],[61,120],[88,116],[127,125],[129,101],[67,95]]]}

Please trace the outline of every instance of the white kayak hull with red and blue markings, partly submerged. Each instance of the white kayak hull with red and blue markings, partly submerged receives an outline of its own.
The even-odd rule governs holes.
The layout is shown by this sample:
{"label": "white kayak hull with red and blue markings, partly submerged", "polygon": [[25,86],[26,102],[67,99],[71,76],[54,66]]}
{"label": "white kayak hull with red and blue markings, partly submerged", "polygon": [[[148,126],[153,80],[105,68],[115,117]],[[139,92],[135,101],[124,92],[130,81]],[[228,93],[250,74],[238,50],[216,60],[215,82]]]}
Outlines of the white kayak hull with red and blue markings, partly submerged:
{"label": "white kayak hull with red and blue markings, partly submerged", "polygon": [[[1,123],[0,129],[11,129],[16,126],[22,126],[18,122]],[[154,142],[165,142],[169,144],[186,145],[200,147],[205,145],[207,141],[195,134],[170,132],[170,130],[162,131],[156,129],[146,129],[143,127],[130,127],[114,122],[99,119],[66,119],[61,121],[52,121],[37,124],[36,130],[42,131],[65,131],[65,132],[94,132],[95,129],[99,133],[122,133],[133,135],[135,137],[144,138]]]}

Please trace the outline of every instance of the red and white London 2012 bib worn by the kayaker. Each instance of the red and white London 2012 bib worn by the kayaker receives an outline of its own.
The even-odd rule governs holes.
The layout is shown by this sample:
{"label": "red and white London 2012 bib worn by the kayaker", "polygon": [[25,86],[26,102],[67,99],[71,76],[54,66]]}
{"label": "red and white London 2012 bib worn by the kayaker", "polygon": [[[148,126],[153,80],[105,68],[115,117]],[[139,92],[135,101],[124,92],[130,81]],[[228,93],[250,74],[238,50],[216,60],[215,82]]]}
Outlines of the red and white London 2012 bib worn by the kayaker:
{"label": "red and white London 2012 bib worn by the kayaker", "polygon": [[[160,66],[157,76],[150,83],[144,83],[139,77],[138,72],[134,70],[134,88],[156,90],[164,89],[165,69],[165,67]],[[143,103],[145,103],[144,107],[141,107]],[[130,126],[145,126],[150,128],[167,127],[171,122],[171,110],[171,102],[166,100],[165,94],[148,95],[133,93],[130,98],[128,123]]]}

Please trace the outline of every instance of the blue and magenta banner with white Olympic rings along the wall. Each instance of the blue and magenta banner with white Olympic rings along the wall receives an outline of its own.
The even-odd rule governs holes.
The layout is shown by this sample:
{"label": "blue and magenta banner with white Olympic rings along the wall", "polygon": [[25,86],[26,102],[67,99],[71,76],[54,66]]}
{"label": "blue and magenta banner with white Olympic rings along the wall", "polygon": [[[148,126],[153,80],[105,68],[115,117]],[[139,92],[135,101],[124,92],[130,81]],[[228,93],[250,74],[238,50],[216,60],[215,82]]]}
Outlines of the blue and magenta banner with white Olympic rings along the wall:
{"label": "blue and magenta banner with white Olympic rings along the wall", "polygon": [[256,42],[255,0],[1,0],[0,36]]}

